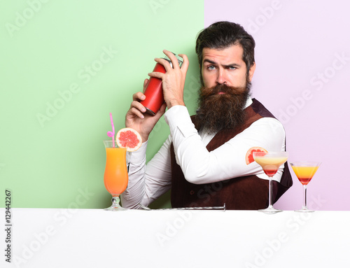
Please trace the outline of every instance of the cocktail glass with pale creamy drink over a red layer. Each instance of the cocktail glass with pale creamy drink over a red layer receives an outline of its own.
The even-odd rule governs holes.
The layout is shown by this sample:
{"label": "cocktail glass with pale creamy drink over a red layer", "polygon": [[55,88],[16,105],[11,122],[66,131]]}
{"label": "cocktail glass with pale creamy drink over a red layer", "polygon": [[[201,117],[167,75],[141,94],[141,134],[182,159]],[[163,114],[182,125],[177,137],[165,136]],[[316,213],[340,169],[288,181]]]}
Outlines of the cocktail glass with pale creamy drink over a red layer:
{"label": "cocktail glass with pale creamy drink over a red layer", "polygon": [[285,163],[288,159],[287,152],[253,152],[255,162],[260,164],[262,170],[267,176],[269,176],[269,206],[266,209],[259,209],[259,211],[274,214],[281,212],[280,209],[274,209],[272,206],[272,178],[274,174],[279,170],[281,164]]}

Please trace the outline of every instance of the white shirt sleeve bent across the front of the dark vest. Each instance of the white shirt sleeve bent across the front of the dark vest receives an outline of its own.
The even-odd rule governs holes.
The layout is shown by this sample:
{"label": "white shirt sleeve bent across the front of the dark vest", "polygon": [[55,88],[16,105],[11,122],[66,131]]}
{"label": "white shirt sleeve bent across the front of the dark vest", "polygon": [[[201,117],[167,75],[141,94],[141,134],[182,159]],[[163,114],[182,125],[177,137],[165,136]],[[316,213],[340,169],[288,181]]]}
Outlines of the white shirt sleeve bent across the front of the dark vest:
{"label": "white shirt sleeve bent across the front of the dark vest", "polygon": [[[267,176],[256,162],[246,164],[247,151],[255,146],[267,151],[285,150],[285,132],[281,122],[261,118],[230,141],[209,152],[197,133],[185,106],[174,106],[165,113],[174,143],[176,162],[187,181],[195,184],[214,183],[239,176]],[[279,181],[283,166],[274,177]]]}

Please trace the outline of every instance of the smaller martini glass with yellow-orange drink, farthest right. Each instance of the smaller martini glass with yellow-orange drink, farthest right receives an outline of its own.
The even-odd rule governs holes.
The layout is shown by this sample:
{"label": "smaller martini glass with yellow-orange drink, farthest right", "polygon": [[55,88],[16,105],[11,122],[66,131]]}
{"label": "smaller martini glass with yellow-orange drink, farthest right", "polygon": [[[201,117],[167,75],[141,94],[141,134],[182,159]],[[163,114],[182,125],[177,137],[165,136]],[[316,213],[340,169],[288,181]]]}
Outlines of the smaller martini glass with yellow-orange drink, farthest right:
{"label": "smaller martini glass with yellow-orange drink, farthest right", "polygon": [[311,181],[311,178],[314,177],[318,167],[320,167],[321,162],[293,162],[290,163],[297,179],[302,183],[303,191],[303,204],[302,209],[297,210],[297,212],[314,212],[311,209],[307,208],[307,184]]}

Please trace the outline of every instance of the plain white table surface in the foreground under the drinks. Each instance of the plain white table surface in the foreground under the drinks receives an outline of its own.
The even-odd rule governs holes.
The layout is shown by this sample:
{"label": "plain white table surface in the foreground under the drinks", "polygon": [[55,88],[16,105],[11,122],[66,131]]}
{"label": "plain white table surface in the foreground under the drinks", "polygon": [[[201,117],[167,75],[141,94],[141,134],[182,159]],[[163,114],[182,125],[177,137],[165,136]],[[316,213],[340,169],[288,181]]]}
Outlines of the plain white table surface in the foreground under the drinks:
{"label": "plain white table surface in the foreground under the drinks", "polygon": [[11,263],[2,253],[0,267],[350,265],[350,211],[11,209],[11,217]]}

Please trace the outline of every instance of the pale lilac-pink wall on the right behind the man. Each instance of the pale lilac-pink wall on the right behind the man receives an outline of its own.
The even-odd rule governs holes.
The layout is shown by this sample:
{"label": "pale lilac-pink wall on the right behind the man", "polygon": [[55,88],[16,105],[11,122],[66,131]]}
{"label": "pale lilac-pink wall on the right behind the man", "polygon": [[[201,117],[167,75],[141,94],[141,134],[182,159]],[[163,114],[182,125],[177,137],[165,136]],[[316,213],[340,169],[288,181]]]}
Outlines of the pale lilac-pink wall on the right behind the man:
{"label": "pale lilac-pink wall on the right behind the man", "polygon": [[[309,206],[350,210],[350,3],[325,0],[204,0],[204,24],[241,24],[256,41],[253,97],[283,123],[289,162],[321,161],[309,183]],[[293,173],[293,171],[292,171]],[[302,185],[277,202],[302,206]]]}

